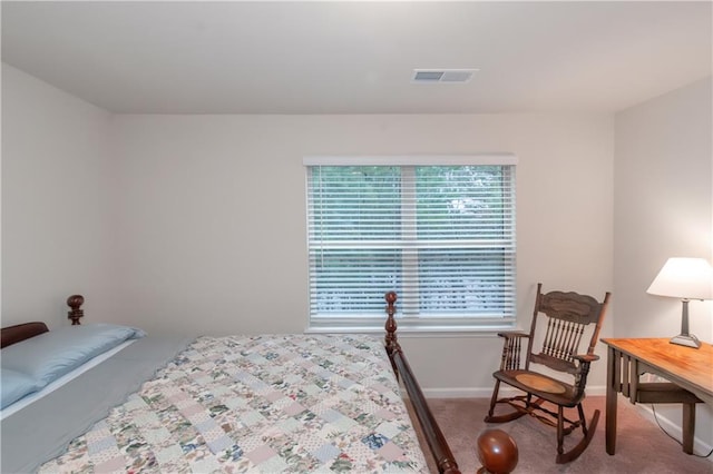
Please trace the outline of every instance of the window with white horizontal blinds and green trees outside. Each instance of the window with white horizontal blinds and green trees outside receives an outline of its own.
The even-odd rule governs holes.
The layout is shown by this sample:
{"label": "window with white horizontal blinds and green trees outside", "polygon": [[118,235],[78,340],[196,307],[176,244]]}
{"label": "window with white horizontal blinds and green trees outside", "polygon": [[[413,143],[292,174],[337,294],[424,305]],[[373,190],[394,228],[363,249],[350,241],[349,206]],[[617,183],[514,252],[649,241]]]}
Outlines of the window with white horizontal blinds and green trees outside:
{"label": "window with white horizontal blinds and green trees outside", "polygon": [[506,156],[306,158],[310,328],[463,330],[515,322]]}

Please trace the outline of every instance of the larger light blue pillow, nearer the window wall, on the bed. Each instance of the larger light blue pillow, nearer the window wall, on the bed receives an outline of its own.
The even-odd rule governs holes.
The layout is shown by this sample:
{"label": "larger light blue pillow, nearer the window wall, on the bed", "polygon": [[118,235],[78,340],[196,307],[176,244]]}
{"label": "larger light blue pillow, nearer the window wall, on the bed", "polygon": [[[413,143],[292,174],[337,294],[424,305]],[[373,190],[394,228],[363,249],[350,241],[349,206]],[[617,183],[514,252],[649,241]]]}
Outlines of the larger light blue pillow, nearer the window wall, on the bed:
{"label": "larger light blue pillow, nearer the window wall, on the bed", "polygon": [[38,388],[127,339],[144,337],[141,329],[113,324],[65,326],[2,349],[2,368],[29,375]]}

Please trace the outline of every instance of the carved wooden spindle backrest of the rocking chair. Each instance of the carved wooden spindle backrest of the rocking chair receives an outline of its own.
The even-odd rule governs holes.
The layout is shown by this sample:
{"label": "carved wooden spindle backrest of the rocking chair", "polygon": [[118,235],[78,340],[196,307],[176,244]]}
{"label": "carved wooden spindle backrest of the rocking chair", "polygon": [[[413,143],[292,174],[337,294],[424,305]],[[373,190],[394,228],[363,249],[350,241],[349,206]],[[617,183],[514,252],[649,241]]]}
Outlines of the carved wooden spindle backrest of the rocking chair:
{"label": "carved wooden spindle backrest of the rocking chair", "polygon": [[[529,369],[529,364],[533,362],[544,364],[554,371],[576,375],[578,365],[575,364],[573,356],[594,354],[611,295],[606,293],[604,300],[599,303],[592,296],[574,292],[543,294],[541,287],[541,284],[537,285],[537,300],[530,326],[526,368]],[[541,322],[540,325],[545,324],[546,326],[544,329],[540,328],[540,333],[544,330],[541,349],[539,353],[535,353],[533,347],[538,320]],[[538,333],[538,336],[541,334]],[[588,344],[584,353],[579,352],[579,344],[583,339]]]}

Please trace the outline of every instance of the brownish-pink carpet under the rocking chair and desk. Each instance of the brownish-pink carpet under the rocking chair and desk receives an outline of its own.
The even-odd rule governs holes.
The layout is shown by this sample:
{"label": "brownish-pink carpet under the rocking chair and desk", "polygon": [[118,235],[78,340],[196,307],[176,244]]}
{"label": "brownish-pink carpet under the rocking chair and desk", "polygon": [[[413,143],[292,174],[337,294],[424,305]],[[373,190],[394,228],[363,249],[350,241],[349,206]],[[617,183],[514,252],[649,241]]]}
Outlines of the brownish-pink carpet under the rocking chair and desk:
{"label": "brownish-pink carpet under the rocking chair and desk", "polygon": [[[480,467],[476,441],[480,433],[488,428],[502,429],[516,441],[519,463],[514,473],[713,473],[712,460],[685,454],[681,445],[623,398],[619,398],[618,403],[616,454],[609,456],[605,451],[604,402],[602,396],[588,397],[585,401],[588,418],[594,408],[602,411],[596,433],[592,444],[579,458],[559,465],[555,463],[557,436],[554,427],[546,426],[530,416],[505,424],[487,424],[482,421],[489,405],[489,399],[486,398],[428,401],[463,473],[475,473]],[[572,415],[576,416],[576,411]],[[574,436],[578,433],[580,431],[569,436],[569,445],[576,444],[577,440]],[[566,442],[565,450],[567,446]]]}

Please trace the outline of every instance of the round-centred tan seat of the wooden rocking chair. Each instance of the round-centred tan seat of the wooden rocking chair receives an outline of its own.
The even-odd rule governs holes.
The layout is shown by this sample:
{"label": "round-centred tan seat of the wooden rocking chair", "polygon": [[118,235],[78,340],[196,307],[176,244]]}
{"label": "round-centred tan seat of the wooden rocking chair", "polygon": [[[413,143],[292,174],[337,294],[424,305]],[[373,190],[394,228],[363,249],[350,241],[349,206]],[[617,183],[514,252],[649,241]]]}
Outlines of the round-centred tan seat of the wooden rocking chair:
{"label": "round-centred tan seat of the wooden rocking chair", "polygon": [[556,405],[574,407],[584,398],[576,397],[573,385],[533,371],[498,371],[492,376]]}

